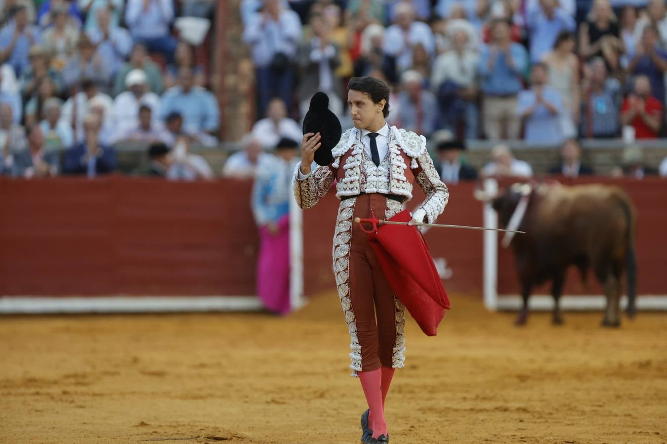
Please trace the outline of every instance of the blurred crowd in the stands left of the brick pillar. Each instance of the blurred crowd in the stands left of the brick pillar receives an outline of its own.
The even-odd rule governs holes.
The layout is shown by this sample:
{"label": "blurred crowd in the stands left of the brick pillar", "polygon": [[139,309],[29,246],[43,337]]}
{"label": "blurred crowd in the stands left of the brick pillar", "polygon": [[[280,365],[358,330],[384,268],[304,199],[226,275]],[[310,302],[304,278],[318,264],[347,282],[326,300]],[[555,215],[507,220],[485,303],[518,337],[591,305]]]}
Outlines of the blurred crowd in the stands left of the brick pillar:
{"label": "blurred crowd in the stands left of the brick pillar", "polygon": [[189,154],[219,144],[220,118],[209,55],[196,48],[206,36],[185,25],[208,29],[215,4],[1,1],[0,175],[107,174],[117,169],[114,146],[132,142],[161,144],[151,158],[169,153],[161,175],[213,177]]}

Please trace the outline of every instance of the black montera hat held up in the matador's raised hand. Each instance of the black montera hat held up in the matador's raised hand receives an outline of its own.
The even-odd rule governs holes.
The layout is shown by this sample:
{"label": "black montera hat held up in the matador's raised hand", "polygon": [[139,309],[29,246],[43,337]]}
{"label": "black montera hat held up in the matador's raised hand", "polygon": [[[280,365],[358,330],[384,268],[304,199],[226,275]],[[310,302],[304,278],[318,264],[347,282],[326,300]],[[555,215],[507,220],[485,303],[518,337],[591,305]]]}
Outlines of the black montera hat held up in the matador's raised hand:
{"label": "black montera hat held up in the matador's raised hand", "polygon": [[326,166],[331,163],[333,149],[343,132],[340,120],[329,110],[329,97],[324,93],[315,93],[310,99],[310,107],[303,118],[303,134],[319,132],[321,146],[315,151],[315,162]]}

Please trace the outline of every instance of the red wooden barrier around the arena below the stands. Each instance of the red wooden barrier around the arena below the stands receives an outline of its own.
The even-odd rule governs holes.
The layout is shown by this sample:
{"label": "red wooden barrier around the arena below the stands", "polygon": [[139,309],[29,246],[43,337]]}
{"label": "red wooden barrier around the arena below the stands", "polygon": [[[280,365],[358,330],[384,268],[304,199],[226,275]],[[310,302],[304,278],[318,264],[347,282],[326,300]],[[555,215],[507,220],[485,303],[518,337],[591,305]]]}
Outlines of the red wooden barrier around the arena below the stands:
{"label": "red wooden barrier around the arena below the stands", "polygon": [[[638,207],[639,292],[665,294],[667,180],[613,183]],[[439,222],[481,225],[482,206],[473,190],[469,183],[450,187]],[[233,180],[0,180],[0,295],[254,295],[257,230],[249,193],[249,182]],[[409,206],[421,200],[415,190]],[[337,206],[329,192],[303,212],[308,296],[334,288]],[[434,258],[446,261],[449,291],[481,293],[481,232],[434,228],[426,240]],[[517,293],[509,250],[500,250],[498,276],[500,294]],[[583,289],[576,279],[569,280],[566,292],[600,294],[597,286]]]}

